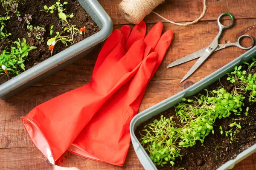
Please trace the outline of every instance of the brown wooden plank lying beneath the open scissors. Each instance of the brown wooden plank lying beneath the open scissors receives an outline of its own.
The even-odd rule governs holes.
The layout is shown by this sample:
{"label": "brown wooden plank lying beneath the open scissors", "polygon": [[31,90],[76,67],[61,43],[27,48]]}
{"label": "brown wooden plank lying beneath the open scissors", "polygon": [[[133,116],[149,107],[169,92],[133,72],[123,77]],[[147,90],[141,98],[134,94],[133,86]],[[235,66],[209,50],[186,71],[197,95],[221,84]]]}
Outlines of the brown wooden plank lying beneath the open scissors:
{"label": "brown wooden plank lying beneath the open scissors", "polygon": [[[227,23],[227,21],[224,23]],[[148,30],[150,30],[152,26],[153,24],[148,24]],[[115,29],[120,27],[121,26],[114,26]],[[166,57],[163,59],[160,68],[153,77],[155,80],[181,79],[186,74],[186,72],[189,71],[195,61],[191,61],[169,69],[166,68],[167,65],[176,59],[206,47],[210,44],[210,42],[212,42],[218,33],[218,25],[216,21],[204,21],[193,26],[188,26],[186,28],[165,23],[164,31],[168,29],[173,30],[174,32],[173,42],[168,52],[166,53]],[[236,20],[235,26],[224,31],[220,43],[236,42],[236,40],[243,34],[250,34],[252,37],[254,37],[254,39],[256,39],[255,30],[256,19]],[[250,41],[245,40],[244,42],[247,43],[244,45],[249,45]],[[37,85],[62,85],[78,83],[87,84],[91,80],[91,74],[93,72],[93,66],[96,62],[98,52],[80,59],[73,65],[70,65],[69,67],[58,71],[58,73],[48,77],[47,79],[42,80]],[[239,57],[244,52],[246,51],[237,47],[230,47],[215,52],[211,57],[209,57],[209,59],[207,59],[201,68],[192,75],[192,78],[206,77],[228,62],[231,62],[236,57]],[[58,88],[58,86],[56,87]]]}

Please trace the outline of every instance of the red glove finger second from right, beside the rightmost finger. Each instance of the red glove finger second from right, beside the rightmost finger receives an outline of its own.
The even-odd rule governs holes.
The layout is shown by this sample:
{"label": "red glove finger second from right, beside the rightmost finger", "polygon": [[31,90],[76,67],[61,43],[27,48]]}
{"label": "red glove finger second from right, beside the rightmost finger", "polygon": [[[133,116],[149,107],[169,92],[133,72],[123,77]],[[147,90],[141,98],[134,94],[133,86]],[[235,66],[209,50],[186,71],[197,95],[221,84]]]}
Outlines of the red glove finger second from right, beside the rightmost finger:
{"label": "red glove finger second from right, beside the rightmost finger", "polygon": [[154,49],[157,45],[157,42],[160,40],[162,31],[163,31],[163,23],[155,24],[144,39],[145,45],[151,46]]}

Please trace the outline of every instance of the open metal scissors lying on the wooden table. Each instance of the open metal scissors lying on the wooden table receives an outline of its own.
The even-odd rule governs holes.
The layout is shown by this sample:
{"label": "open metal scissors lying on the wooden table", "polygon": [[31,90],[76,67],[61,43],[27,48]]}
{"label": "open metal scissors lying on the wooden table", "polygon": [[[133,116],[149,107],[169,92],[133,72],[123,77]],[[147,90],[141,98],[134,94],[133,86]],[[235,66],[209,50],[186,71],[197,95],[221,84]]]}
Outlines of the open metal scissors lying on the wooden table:
{"label": "open metal scissors lying on the wooden table", "polygon": [[[220,22],[221,17],[223,17],[224,15],[229,16],[231,18],[231,20],[232,20],[231,24],[229,26],[223,26],[221,24],[221,22]],[[241,37],[239,37],[239,39],[235,43],[218,44],[218,39],[221,37],[222,31],[224,29],[226,29],[226,28],[230,28],[230,27],[233,26],[233,24],[234,24],[234,17],[230,13],[224,13],[224,14],[221,14],[218,17],[217,21],[218,21],[218,26],[219,26],[218,35],[215,37],[215,39],[211,42],[211,44],[208,47],[203,48],[203,49],[201,49],[199,51],[196,51],[195,53],[189,54],[186,57],[177,59],[176,61],[172,62],[171,64],[169,64],[167,66],[167,68],[171,68],[171,67],[173,67],[175,65],[179,65],[179,64],[182,64],[184,62],[188,62],[188,61],[190,61],[192,59],[199,58],[197,60],[197,62],[195,62],[195,64],[192,66],[192,68],[190,68],[190,70],[187,72],[187,74],[183,77],[183,79],[180,81],[180,83],[185,81],[187,78],[189,78],[204,63],[204,61],[215,51],[221,50],[221,49],[226,48],[226,47],[231,47],[231,46],[236,46],[236,47],[239,47],[239,48],[241,48],[243,50],[249,50],[250,48],[253,47],[254,40],[253,40],[253,37],[251,37],[250,35],[242,35]],[[243,47],[240,44],[240,40],[243,37],[249,37],[252,40],[252,45],[250,47]]]}

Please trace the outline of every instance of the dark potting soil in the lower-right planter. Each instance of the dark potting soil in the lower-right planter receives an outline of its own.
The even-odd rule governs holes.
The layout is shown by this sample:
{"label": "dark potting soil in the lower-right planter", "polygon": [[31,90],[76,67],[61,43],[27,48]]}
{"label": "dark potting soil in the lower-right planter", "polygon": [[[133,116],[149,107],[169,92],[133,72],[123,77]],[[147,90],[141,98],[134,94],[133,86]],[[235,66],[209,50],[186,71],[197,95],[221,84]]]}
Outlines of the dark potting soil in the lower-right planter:
{"label": "dark potting soil in the lower-right planter", "polygon": [[[242,69],[245,68],[247,68],[247,66],[243,65]],[[252,74],[255,72],[256,69],[251,70]],[[220,86],[224,87],[229,92],[233,89],[233,84],[231,84],[227,80],[227,76],[225,76],[212,85],[209,85],[207,90],[216,90]],[[205,94],[205,91],[203,90],[200,93]],[[198,141],[193,147],[183,148],[181,150],[181,154],[183,154],[182,160],[177,158],[174,166],[167,163],[164,167],[160,165],[157,166],[157,169],[178,170],[183,167],[184,170],[215,170],[225,162],[235,159],[239,153],[251,147],[253,144],[256,144],[256,103],[248,102],[247,95],[244,96],[246,98],[243,101],[244,107],[242,107],[243,112],[241,115],[231,114],[230,117],[226,119],[217,118],[214,123],[214,134],[210,133],[206,136],[203,145]],[[249,107],[248,116],[245,116],[244,111],[247,107]],[[153,122],[155,119],[160,120],[161,115],[166,118],[174,116],[173,120],[181,125],[181,123],[178,122],[179,118],[175,114],[175,108],[172,107],[148,119],[146,122],[141,123],[135,130],[137,139],[140,140],[140,133],[146,135],[145,131],[141,132],[141,130],[145,129],[144,126]],[[236,134],[238,139],[231,141],[230,136],[225,136],[225,131],[231,130],[232,127],[229,125],[235,122],[233,119],[241,119],[236,120],[236,122],[240,122],[242,128],[239,129],[240,132]],[[223,135],[220,133],[221,130],[219,126],[223,128]]]}

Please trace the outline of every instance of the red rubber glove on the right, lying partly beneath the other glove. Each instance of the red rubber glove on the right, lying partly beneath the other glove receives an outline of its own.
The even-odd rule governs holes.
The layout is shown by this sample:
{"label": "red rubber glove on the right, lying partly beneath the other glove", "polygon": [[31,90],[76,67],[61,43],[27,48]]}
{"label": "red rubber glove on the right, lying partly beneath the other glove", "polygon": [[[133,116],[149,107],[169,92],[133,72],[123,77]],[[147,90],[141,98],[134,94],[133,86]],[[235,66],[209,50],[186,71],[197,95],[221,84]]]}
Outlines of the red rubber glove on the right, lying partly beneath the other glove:
{"label": "red rubber glove on the right, lying partly beneath the other glove", "polygon": [[[146,58],[145,64],[140,66],[134,78],[116,91],[93,116],[68,149],[70,152],[96,161],[123,165],[131,141],[131,119],[138,113],[146,85],[172,42],[172,31],[166,31],[160,37],[162,29],[162,23],[157,23],[144,39],[148,47],[157,51],[158,60],[148,59],[155,52]],[[145,51],[145,56],[148,53],[149,51]]]}

